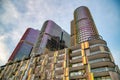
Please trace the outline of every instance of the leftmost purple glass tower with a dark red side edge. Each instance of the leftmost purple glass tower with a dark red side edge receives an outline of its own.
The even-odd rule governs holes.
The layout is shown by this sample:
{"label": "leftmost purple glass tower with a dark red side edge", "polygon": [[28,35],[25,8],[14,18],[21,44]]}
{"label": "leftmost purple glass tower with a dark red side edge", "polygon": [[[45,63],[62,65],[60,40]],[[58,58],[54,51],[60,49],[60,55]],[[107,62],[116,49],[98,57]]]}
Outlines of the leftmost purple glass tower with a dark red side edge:
{"label": "leftmost purple glass tower with a dark red side edge", "polygon": [[18,45],[14,49],[8,61],[15,59],[21,60],[23,57],[28,57],[35,42],[37,41],[39,33],[39,30],[28,28],[19,41]]}

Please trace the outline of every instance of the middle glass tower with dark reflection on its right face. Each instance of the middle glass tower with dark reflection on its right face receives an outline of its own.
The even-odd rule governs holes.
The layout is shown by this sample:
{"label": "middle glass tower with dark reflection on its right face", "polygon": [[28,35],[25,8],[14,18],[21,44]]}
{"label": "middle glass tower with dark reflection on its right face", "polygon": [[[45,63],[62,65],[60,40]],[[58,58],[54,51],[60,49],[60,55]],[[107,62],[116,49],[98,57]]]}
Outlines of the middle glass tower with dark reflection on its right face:
{"label": "middle glass tower with dark reflection on its right face", "polygon": [[47,20],[41,29],[33,53],[43,53],[47,48],[56,51],[70,47],[70,35],[52,20]]}

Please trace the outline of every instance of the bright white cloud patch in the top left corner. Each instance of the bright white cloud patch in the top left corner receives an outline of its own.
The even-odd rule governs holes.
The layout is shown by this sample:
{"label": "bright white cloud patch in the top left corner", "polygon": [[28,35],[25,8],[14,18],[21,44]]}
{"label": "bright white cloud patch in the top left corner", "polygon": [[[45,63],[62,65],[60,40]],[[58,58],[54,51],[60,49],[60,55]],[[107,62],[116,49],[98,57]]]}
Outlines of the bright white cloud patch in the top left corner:
{"label": "bright white cloud patch in the top left corner", "polygon": [[20,15],[16,11],[14,5],[10,0],[3,1],[2,5],[5,10],[4,14],[0,15],[2,23],[9,24],[10,22],[15,22]]}

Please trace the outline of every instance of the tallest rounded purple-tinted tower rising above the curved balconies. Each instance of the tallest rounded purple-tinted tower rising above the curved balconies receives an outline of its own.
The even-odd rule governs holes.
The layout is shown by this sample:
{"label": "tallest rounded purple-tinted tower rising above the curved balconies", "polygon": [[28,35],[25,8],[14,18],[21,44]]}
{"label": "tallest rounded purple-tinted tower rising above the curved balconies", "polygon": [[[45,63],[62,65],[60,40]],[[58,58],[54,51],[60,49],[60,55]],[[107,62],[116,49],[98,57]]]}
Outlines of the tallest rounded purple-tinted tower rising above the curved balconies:
{"label": "tallest rounded purple-tinted tower rising above the curved balconies", "polygon": [[99,33],[87,7],[82,6],[74,11],[74,24],[76,27],[77,43],[86,41],[92,37],[99,38]]}

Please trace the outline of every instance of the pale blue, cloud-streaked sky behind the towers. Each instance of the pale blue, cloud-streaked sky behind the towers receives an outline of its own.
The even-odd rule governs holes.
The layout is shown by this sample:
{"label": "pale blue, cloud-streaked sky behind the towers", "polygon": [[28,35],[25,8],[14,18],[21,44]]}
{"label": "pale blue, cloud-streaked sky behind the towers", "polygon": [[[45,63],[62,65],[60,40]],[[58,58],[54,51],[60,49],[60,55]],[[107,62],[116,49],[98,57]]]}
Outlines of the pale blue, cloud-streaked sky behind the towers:
{"label": "pale blue, cloud-streaked sky behind the towers", "polygon": [[87,6],[120,67],[119,5],[119,0],[0,0],[0,66],[7,62],[28,27],[40,30],[46,20],[53,20],[70,33],[74,10]]}

